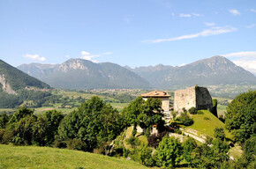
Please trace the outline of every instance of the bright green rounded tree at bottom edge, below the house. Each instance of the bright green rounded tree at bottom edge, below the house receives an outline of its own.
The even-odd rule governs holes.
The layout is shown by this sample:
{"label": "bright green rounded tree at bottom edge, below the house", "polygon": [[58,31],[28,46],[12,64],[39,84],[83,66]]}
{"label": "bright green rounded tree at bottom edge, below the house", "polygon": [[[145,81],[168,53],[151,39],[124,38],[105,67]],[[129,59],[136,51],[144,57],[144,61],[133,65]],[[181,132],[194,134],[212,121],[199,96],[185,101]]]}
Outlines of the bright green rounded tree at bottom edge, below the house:
{"label": "bright green rounded tree at bottom edge, below the house", "polygon": [[155,152],[156,165],[174,167],[182,159],[181,143],[174,137],[164,136]]}

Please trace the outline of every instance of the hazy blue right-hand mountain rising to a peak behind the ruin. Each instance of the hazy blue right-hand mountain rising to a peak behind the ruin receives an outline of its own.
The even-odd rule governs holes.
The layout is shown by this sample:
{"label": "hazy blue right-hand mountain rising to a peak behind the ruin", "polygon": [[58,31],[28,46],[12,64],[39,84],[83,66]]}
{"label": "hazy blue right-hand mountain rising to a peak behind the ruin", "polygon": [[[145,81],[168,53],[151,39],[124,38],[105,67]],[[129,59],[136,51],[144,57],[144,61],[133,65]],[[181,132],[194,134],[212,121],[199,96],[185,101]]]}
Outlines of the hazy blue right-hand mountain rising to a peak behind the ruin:
{"label": "hazy blue right-hand mountain rising to a peak behind the ruin", "polygon": [[218,84],[256,84],[256,77],[222,56],[213,56],[180,67],[139,67],[130,69],[155,88],[177,89],[185,86]]}

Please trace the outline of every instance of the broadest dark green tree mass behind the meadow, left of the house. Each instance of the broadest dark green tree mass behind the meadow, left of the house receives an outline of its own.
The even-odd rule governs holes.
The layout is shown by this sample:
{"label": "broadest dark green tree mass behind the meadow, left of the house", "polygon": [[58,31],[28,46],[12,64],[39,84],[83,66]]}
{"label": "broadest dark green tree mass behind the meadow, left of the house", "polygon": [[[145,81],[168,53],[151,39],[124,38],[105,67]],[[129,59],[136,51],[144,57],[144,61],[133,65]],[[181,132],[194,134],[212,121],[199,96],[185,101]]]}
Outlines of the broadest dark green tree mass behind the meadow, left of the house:
{"label": "broadest dark green tree mass behind the meadow, left of the house", "polygon": [[58,128],[59,141],[80,139],[85,151],[97,146],[107,148],[107,142],[118,136],[124,129],[122,116],[102,99],[92,97],[78,109],[64,117]]}

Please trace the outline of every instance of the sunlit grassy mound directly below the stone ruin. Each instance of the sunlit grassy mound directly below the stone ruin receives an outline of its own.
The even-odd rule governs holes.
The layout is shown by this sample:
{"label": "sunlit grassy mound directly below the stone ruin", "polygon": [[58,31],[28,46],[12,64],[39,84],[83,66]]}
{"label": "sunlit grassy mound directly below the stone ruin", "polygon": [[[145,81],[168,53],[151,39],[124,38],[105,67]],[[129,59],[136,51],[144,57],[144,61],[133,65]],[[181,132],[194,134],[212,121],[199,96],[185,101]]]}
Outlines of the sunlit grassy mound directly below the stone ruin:
{"label": "sunlit grassy mound directly below the stone ruin", "polygon": [[[214,114],[211,114],[207,110],[201,110],[204,114],[194,114],[191,115],[194,123],[192,126],[188,127],[191,129],[199,130],[202,133],[205,133],[209,136],[214,136],[215,128],[222,127],[225,130],[225,134],[227,137],[231,138],[231,134],[225,129],[225,124],[215,117]],[[208,118],[209,120],[205,120],[204,118]]]}

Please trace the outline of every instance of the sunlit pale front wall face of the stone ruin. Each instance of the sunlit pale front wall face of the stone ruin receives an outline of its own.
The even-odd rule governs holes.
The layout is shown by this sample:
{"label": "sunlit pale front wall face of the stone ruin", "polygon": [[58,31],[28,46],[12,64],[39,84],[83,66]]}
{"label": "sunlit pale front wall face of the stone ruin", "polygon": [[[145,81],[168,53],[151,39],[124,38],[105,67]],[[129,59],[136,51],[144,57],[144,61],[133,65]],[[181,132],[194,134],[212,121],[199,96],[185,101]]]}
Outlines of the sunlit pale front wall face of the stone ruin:
{"label": "sunlit pale front wall face of the stone ruin", "polygon": [[184,90],[178,90],[174,94],[174,111],[182,112],[182,108],[186,110],[191,107],[196,107],[195,87],[190,87]]}

